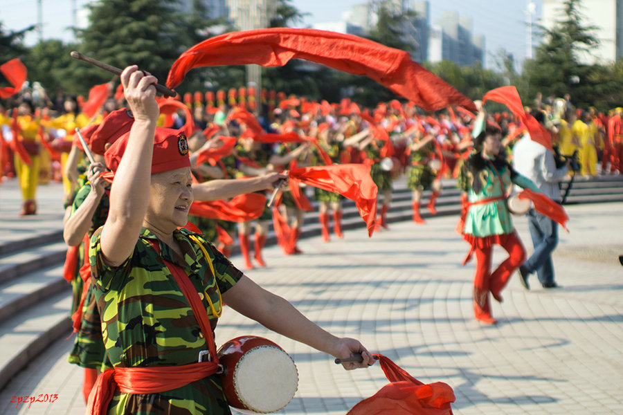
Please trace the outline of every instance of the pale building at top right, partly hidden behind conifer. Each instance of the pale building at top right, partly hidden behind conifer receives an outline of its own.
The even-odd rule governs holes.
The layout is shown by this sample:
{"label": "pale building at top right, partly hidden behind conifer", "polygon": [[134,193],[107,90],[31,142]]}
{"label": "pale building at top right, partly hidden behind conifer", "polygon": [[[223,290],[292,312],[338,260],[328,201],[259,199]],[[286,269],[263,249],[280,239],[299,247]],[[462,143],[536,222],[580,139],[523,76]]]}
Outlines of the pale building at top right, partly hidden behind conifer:
{"label": "pale building at top right, partly hidden behind conifer", "polygon": [[[578,56],[584,64],[615,62],[623,57],[623,0],[582,0],[579,12],[586,19],[584,26],[597,26],[593,35],[599,39],[599,46],[589,53]],[[545,28],[553,28],[556,21],[565,18],[563,0],[543,0]]]}

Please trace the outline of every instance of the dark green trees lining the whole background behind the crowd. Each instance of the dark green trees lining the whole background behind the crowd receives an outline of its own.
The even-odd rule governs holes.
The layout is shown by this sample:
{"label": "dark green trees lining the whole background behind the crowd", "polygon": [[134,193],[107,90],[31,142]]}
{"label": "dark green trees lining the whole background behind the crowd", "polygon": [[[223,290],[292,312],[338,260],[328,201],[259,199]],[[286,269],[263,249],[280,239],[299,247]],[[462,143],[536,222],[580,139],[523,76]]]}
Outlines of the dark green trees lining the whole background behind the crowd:
{"label": "dark green trees lining the whole background behind the crowd", "polygon": [[[6,62],[20,57],[28,68],[28,80],[40,82],[48,94],[58,89],[86,95],[91,86],[116,78],[100,68],[69,57],[78,50],[108,64],[123,68],[138,64],[163,82],[174,59],[183,50],[214,35],[239,30],[225,18],[211,19],[201,0],[192,0],[181,9],[179,0],[100,0],[89,3],[89,25],[75,29],[76,43],[44,40],[35,46],[24,45],[30,26],[19,31],[6,30],[0,21],[0,56]],[[272,27],[296,26],[303,15],[291,0],[278,0]],[[393,1],[374,2],[377,24],[367,37],[392,48],[415,53],[408,30],[417,15],[395,10]],[[186,12],[181,12],[186,10]],[[597,46],[596,28],[584,24],[581,0],[565,0],[561,17],[552,28],[541,28],[543,39],[534,59],[524,62],[515,73],[514,57],[505,50],[496,52],[497,70],[480,64],[458,66],[443,61],[424,66],[449,82],[471,99],[505,84],[518,87],[524,102],[536,93],[563,96],[569,93],[579,107],[595,106],[600,111],[621,106],[623,102],[623,63],[586,64],[581,58]],[[0,63],[3,63],[0,62]],[[191,71],[178,92],[215,91],[245,84],[244,66],[215,66]],[[348,96],[366,106],[399,98],[367,77],[341,73],[331,68],[294,59],[284,67],[262,68],[263,86],[287,94],[336,102]],[[0,83],[5,81],[0,75]]]}

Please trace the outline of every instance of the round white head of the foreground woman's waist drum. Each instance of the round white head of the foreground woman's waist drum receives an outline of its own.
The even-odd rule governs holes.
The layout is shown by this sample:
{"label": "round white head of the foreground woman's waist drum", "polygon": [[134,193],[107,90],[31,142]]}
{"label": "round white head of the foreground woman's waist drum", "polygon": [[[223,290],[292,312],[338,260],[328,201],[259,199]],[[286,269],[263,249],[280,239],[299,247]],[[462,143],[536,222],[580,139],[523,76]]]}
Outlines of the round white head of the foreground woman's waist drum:
{"label": "round white head of the foreground woman's waist drum", "polygon": [[244,353],[234,371],[238,399],[254,412],[266,414],[288,405],[298,389],[294,360],[282,349],[260,346]]}

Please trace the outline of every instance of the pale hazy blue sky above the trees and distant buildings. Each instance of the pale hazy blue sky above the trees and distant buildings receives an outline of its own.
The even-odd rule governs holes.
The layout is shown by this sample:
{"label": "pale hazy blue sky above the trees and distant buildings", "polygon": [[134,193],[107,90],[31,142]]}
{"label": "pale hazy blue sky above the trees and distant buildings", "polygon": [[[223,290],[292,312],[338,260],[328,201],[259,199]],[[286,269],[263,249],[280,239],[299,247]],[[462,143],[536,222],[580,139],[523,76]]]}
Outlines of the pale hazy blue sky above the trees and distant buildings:
{"label": "pale hazy blue sky above the trees and distant buildings", "polygon": [[[88,0],[41,0],[44,21],[44,38],[72,39],[69,26],[73,26],[73,7],[78,10]],[[316,22],[340,21],[352,5],[364,3],[362,0],[293,0],[291,3],[301,12],[311,15],[305,18],[305,24]],[[37,23],[38,0],[0,0],[0,21],[3,28],[19,30]],[[491,54],[500,48],[512,53],[516,61],[521,61],[527,50],[526,22],[527,3],[529,0],[431,0],[428,2],[431,24],[436,24],[445,10],[454,10],[459,15],[471,16],[472,31],[485,36],[486,66],[492,68]],[[537,15],[541,0],[535,1]],[[84,20],[84,13],[78,13],[78,24]],[[37,42],[38,35],[26,37],[27,44]]]}

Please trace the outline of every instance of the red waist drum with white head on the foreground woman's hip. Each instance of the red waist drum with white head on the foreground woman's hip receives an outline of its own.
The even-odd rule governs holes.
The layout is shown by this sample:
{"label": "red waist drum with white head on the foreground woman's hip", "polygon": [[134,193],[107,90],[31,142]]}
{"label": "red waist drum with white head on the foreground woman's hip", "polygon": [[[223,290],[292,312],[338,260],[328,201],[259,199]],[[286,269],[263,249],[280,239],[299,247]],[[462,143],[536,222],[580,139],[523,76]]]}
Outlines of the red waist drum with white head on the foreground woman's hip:
{"label": "red waist drum with white head on the foreground woman's hip", "polygon": [[249,414],[285,407],[298,388],[294,360],[271,340],[246,335],[229,340],[218,351],[225,397],[230,406]]}

